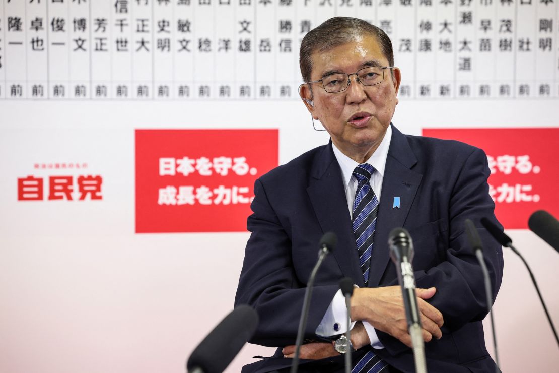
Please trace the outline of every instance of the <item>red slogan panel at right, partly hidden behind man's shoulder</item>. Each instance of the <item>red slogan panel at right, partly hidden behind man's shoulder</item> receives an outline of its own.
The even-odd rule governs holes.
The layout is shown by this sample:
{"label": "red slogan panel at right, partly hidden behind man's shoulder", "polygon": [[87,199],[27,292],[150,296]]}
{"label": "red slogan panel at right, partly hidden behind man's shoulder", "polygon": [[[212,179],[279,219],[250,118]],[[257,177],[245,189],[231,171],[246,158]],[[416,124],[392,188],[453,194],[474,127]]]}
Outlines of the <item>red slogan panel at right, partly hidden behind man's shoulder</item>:
{"label": "red slogan panel at right, partly hidden behind man's shoulder", "polygon": [[424,136],[481,148],[491,176],[495,215],[507,229],[527,229],[536,210],[559,216],[559,128],[423,129]]}

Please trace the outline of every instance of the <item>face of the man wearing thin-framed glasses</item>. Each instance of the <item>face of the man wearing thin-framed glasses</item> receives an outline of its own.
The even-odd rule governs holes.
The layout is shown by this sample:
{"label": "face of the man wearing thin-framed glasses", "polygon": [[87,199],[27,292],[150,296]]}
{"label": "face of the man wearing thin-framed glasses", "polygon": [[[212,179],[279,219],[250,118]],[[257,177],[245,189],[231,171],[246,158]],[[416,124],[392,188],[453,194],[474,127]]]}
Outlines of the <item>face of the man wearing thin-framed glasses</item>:
{"label": "face of the man wearing thin-framed glasses", "polygon": [[[389,66],[371,35],[359,36],[352,43],[326,53],[315,53],[312,62],[312,81],[332,72],[355,73],[371,63]],[[400,86],[400,70],[393,70],[394,78],[390,69],[385,69],[384,80],[375,86],[363,86],[357,83],[356,75],[351,75],[349,87],[337,93],[328,93],[321,83],[312,83],[314,107],[307,104],[307,108],[314,119],[320,120],[334,144],[349,157],[369,157],[386,133],[398,103],[396,95]],[[309,85],[301,88],[301,95],[307,98]]]}

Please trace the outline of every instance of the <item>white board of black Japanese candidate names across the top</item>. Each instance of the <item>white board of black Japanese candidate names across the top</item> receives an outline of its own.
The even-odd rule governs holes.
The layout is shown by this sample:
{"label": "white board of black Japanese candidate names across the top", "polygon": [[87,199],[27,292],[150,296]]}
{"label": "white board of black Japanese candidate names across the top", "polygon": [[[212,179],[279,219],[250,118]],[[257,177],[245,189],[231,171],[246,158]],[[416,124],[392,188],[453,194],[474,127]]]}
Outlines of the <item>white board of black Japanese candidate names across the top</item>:
{"label": "white board of black Japanese candidate names across the top", "polygon": [[334,16],[386,31],[401,98],[559,97],[553,0],[0,2],[0,99],[295,99]]}

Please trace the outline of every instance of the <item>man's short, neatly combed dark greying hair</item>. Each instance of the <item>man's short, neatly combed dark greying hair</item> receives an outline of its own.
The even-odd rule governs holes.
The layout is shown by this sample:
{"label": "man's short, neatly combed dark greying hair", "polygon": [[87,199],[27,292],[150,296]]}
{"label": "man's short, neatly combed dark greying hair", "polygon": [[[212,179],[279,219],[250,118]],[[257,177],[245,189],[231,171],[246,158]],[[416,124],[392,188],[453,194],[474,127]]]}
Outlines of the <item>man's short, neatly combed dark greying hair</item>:
{"label": "man's short, neatly combed dark greying hair", "polygon": [[[299,66],[303,81],[311,81],[313,53],[324,53],[337,46],[351,43],[362,35],[375,36],[389,66],[394,66],[392,42],[382,29],[359,18],[333,17],[307,32],[301,42]],[[390,71],[392,72],[392,69]]]}

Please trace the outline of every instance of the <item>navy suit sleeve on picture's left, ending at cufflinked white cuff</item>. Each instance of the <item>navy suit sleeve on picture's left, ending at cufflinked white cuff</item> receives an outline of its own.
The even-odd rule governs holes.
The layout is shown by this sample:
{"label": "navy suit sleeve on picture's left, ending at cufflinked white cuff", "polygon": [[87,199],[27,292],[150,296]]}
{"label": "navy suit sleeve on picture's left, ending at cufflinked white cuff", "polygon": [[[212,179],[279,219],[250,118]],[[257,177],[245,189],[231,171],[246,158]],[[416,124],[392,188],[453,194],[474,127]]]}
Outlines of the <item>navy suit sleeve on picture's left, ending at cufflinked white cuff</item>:
{"label": "navy suit sleeve on picture's left, ending at cufflinked white cuff", "polygon": [[[254,186],[254,201],[247,228],[252,233],[245,249],[243,270],[235,305],[248,304],[260,317],[250,342],[278,347],[294,344],[299,327],[305,285],[312,268],[297,274],[292,263],[292,243],[268,201],[262,183]],[[318,253],[318,248],[316,249]],[[338,290],[338,285],[315,286],[305,338],[315,330]]]}

